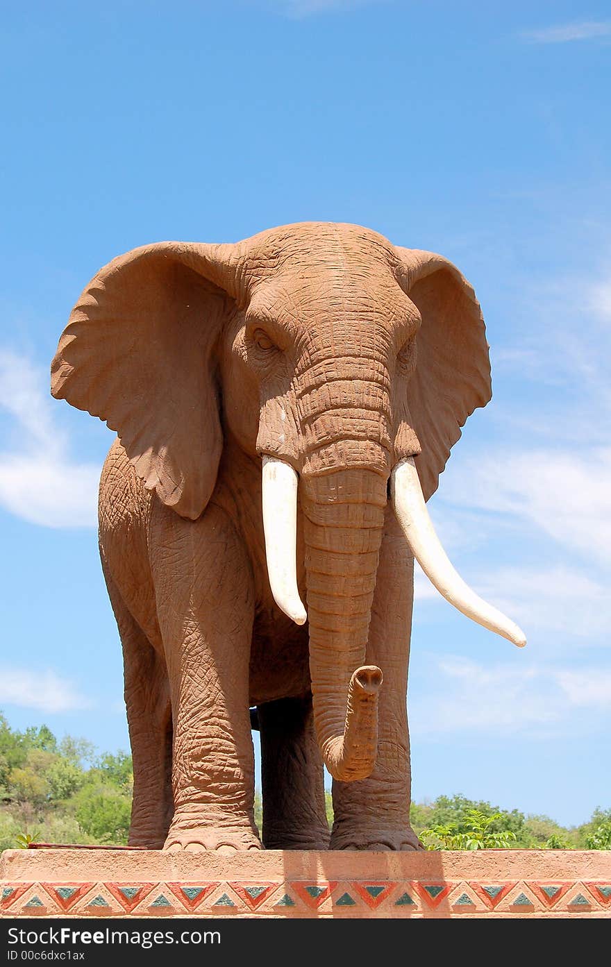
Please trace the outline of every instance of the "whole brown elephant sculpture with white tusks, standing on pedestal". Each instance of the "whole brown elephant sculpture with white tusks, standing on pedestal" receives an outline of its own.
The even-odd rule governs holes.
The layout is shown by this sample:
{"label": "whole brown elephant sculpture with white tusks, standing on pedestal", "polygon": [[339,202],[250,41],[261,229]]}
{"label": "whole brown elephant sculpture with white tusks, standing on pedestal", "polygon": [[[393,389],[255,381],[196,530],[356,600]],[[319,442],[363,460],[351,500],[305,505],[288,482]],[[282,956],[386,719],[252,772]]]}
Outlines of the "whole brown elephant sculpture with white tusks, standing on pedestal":
{"label": "whole brown elephant sculpture with white tusks, standing on pedestal", "polygon": [[118,434],[100,548],[125,661],[131,844],[418,849],[414,558],[465,615],[525,643],[453,570],[425,508],[491,395],[470,284],[350,224],[148,245],[85,289],[51,386]]}

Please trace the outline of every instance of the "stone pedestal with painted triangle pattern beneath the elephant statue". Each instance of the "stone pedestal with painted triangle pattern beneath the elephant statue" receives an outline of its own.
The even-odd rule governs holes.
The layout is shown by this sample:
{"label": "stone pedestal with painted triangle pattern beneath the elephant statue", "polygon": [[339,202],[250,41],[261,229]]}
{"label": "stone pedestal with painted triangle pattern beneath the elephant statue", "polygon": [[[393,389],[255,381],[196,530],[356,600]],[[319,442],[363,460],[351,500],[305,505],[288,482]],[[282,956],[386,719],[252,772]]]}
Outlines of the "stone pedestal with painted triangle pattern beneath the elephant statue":
{"label": "stone pedestal with painted triangle pattern beneath the elephant statue", "polygon": [[7,850],[3,917],[611,917],[611,853]]}

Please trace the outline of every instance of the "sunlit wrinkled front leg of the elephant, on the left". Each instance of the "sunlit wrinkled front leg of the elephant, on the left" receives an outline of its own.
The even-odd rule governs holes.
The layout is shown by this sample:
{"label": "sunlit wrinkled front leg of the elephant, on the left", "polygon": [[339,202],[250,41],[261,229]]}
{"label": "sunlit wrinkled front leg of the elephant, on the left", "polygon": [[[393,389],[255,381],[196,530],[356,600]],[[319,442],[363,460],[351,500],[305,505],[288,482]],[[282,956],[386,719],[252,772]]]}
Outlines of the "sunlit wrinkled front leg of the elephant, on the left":
{"label": "sunlit wrinkled front leg of the elephant, on the left", "polygon": [[174,722],[174,816],[164,849],[261,849],[248,713],[253,593],[246,553],[215,507],[172,514],[154,555]]}

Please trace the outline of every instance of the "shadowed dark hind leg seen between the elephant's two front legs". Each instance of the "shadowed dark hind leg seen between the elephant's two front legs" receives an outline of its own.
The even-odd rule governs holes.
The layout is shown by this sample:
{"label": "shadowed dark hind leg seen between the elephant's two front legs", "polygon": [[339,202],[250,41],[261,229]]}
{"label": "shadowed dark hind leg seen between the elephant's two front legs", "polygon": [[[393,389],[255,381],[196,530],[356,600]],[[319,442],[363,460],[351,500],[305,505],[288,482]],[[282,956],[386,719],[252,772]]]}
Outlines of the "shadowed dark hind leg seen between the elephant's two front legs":
{"label": "shadowed dark hind leg seen between the elephant's two front legs", "polygon": [[323,762],[314,735],[311,695],[266,702],[257,711],[263,845],[329,849]]}

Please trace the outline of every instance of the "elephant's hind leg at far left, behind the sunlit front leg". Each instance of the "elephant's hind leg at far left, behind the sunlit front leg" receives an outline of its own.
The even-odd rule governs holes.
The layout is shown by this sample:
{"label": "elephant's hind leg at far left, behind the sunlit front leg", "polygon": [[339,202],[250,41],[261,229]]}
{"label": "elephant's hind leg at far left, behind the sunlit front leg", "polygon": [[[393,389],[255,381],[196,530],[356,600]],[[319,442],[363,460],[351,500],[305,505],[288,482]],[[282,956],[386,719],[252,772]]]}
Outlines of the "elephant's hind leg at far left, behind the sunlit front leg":
{"label": "elephant's hind leg at far left, behind the sunlit front leg", "polygon": [[125,671],[133,761],[131,846],[161,849],[172,820],[172,712],[165,659],[131,615],[106,575]]}

